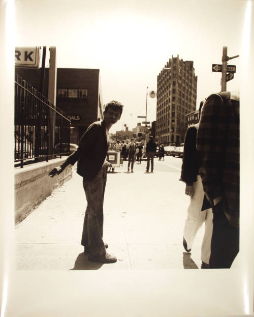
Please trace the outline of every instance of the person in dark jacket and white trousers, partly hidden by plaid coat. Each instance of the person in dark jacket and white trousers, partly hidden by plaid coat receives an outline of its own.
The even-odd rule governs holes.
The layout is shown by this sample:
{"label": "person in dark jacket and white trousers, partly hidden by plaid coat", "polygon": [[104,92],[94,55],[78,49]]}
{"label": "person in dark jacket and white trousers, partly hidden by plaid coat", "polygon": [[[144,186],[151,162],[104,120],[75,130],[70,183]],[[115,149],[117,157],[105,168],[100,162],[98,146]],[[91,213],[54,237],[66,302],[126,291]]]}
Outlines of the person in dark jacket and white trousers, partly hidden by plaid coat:
{"label": "person in dark jacket and white trousers, partly hidden by plaid coat", "polygon": [[[200,103],[199,116],[203,101]],[[182,169],[180,181],[185,186],[185,194],[190,196],[190,204],[187,209],[187,218],[183,229],[183,247],[190,252],[194,239],[200,227],[205,223],[205,233],[201,246],[201,269],[209,269],[212,238],[212,209],[206,199],[202,180],[199,175],[199,158],[197,152],[197,132],[199,124],[187,128],[184,137]]]}

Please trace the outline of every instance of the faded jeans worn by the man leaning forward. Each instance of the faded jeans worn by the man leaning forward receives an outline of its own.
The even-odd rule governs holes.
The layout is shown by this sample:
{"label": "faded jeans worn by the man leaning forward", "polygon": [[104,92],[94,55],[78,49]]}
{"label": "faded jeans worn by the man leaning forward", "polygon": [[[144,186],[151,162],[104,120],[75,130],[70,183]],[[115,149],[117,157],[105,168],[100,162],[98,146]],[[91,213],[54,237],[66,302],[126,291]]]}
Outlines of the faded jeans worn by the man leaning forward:
{"label": "faded jeans worn by the man leaning forward", "polygon": [[87,207],[81,244],[93,255],[105,255],[103,242],[103,201],[107,182],[107,165],[103,165],[95,178],[83,178]]}

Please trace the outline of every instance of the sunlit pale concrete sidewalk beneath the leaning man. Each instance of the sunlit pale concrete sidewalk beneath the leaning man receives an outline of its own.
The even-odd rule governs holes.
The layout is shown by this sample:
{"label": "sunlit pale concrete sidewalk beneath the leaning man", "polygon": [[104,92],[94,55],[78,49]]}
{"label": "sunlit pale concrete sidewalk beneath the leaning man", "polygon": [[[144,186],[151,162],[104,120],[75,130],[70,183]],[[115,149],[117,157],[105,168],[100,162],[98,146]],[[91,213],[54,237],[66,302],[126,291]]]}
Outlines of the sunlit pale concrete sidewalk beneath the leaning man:
{"label": "sunlit pale concrete sidewalk beneath the leaning man", "polygon": [[[176,158],[177,160],[177,158]],[[114,264],[88,261],[80,244],[86,199],[82,178],[54,191],[16,226],[19,270],[167,270],[198,269],[204,226],[192,251],[182,246],[189,197],[179,181],[180,170],[155,159],[154,173],[146,162],[127,162],[107,175],[104,201],[104,242],[117,256]]]}

